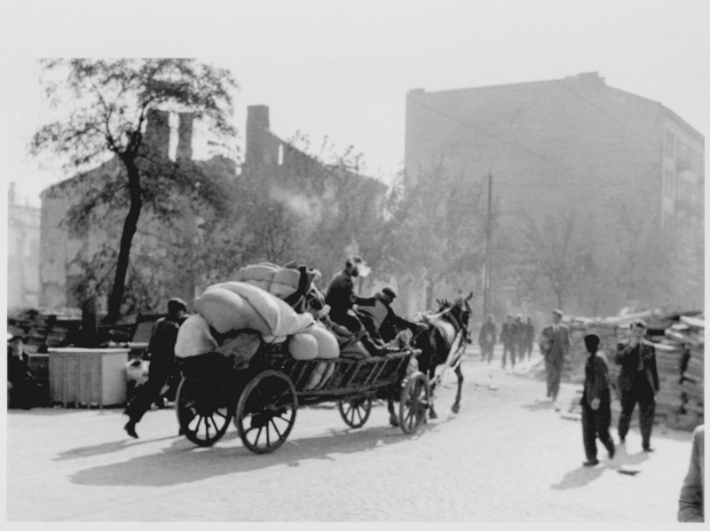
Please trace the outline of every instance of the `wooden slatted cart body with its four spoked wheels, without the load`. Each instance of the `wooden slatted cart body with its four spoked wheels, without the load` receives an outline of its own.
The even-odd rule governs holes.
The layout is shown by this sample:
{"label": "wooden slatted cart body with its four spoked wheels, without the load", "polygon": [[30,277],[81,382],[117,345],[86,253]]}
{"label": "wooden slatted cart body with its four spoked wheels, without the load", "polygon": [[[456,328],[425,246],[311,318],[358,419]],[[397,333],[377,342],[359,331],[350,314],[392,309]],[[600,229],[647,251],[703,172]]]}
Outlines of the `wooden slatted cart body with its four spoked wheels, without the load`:
{"label": "wooden slatted cart body with its four spoked wheels, without the load", "polygon": [[229,358],[202,356],[199,368],[184,367],[177,391],[182,433],[200,446],[218,441],[233,421],[248,449],[263,454],[288,439],[299,407],[337,402],[343,421],[364,426],[375,399],[399,402],[399,426],[414,433],[430,401],[429,379],[412,368],[419,351],[364,359],[297,360],[280,345],[262,345],[248,366]]}

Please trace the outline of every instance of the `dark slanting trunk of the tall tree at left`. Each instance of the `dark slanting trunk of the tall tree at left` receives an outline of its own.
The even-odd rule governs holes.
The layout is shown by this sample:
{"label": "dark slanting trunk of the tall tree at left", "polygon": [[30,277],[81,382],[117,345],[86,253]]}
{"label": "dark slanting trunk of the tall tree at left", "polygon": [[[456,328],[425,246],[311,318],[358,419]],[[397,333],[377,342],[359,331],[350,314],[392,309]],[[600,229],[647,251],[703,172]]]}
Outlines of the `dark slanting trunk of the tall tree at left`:
{"label": "dark slanting trunk of the tall tree at left", "polygon": [[138,166],[134,158],[122,158],[123,164],[128,172],[128,183],[130,193],[130,208],[126,220],[123,222],[121,233],[121,246],[118,252],[118,262],[116,262],[116,274],[111,294],[108,296],[108,314],[106,324],[115,324],[121,316],[121,305],[123,302],[123,292],[125,291],[126,273],[130,261],[130,246],[133,243],[133,236],[138,228],[138,218],[143,207],[143,199],[140,195],[140,175]]}

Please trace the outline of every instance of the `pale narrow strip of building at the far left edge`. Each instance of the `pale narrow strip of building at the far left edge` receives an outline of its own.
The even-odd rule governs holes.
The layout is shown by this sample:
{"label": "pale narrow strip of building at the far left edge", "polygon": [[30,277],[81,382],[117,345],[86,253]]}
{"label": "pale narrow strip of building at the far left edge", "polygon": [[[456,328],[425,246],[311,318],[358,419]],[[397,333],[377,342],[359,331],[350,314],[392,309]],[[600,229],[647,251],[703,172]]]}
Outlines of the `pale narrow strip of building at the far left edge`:
{"label": "pale narrow strip of building at the far left edge", "polygon": [[39,303],[40,209],[23,201],[10,183],[7,196],[7,308]]}

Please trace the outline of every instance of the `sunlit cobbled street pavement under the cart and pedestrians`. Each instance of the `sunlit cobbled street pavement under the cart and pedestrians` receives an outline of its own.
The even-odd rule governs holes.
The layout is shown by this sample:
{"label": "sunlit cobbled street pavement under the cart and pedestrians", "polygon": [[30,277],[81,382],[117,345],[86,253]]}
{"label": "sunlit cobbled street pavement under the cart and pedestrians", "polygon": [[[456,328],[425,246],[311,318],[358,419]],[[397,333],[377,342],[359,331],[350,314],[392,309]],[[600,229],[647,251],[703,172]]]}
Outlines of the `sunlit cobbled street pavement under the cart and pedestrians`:
{"label": "sunlit cobbled street pavement under the cart and pedestrians", "polygon": [[[10,521],[445,521],[675,522],[690,433],[654,429],[651,454],[637,428],[612,461],[581,466],[581,426],[544,397],[544,382],[501,370],[471,349],[461,412],[455,377],[439,418],[412,436],[375,406],[350,429],[332,404],[298,410],[276,452],[257,456],[231,426],[199,449],[177,436],[174,410],[154,410],[123,433],[122,410],[12,410],[7,417]],[[575,387],[563,387],[563,402]],[[616,438],[616,431],[612,430]],[[619,473],[627,472],[627,473]]]}

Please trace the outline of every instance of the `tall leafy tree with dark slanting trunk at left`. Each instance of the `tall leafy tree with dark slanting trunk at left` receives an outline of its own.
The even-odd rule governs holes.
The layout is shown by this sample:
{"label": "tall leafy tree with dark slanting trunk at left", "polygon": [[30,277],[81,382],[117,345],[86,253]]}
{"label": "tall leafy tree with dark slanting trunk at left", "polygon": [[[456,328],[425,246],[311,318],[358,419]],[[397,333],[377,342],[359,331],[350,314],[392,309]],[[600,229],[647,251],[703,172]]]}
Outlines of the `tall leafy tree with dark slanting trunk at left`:
{"label": "tall leafy tree with dark slanting trunk at left", "polygon": [[143,209],[168,222],[189,204],[176,200],[185,193],[207,202],[223,197],[201,168],[158,156],[146,143],[148,113],[191,112],[207,124],[216,143],[225,142],[234,133],[228,118],[236,83],[228,71],[193,59],[49,59],[43,67],[47,97],[51,105],[67,109],[67,115],[39,129],[30,152],[66,156],[67,167],[76,169],[106,160],[107,155],[115,160],[99,183],[89,183],[87,174],[65,188],[83,192],[68,216],[75,229],[91,221],[100,223],[106,212],[102,207],[127,209],[108,296],[106,322],[114,323],[120,316],[131,245]]}

